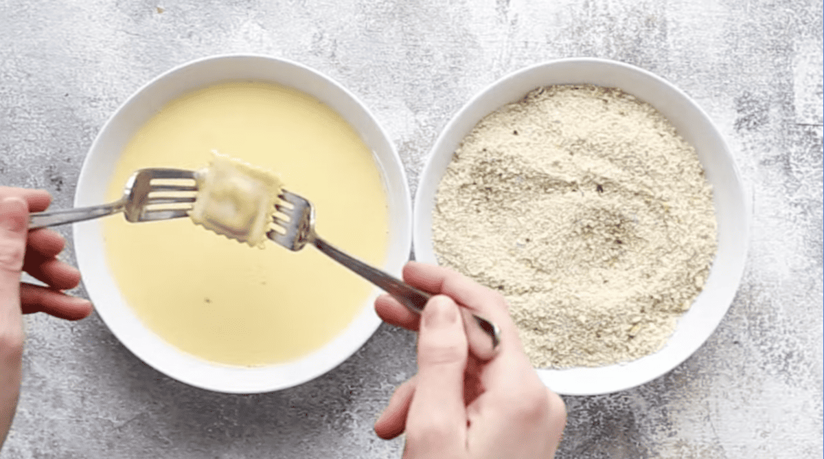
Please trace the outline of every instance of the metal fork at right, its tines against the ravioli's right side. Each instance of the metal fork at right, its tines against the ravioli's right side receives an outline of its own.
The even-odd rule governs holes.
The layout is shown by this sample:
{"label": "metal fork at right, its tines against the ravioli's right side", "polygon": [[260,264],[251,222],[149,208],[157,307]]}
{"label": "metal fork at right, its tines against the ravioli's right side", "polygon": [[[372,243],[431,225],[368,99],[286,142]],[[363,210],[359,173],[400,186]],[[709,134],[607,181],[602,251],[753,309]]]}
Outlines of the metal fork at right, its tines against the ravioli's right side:
{"label": "metal fork at right, its tines against the ravioli's right side", "polygon": [[[424,306],[432,295],[414,288],[400,279],[396,279],[381,269],[374,268],[351,255],[347,255],[344,251],[340,251],[321,239],[321,237],[318,237],[315,232],[315,208],[307,199],[287,190],[282,190],[279,198],[289,204],[275,205],[277,211],[286,217],[282,218],[277,214],[274,215],[274,222],[284,232],[281,233],[274,229],[269,230],[266,233],[269,239],[290,251],[299,251],[307,244],[316,246],[319,251],[329,255],[341,265],[352,269],[364,279],[386,290],[410,311],[416,314],[424,311]],[[494,357],[500,342],[498,326],[483,317],[472,314],[466,307],[461,307],[460,310],[466,336],[473,354],[484,360]]]}

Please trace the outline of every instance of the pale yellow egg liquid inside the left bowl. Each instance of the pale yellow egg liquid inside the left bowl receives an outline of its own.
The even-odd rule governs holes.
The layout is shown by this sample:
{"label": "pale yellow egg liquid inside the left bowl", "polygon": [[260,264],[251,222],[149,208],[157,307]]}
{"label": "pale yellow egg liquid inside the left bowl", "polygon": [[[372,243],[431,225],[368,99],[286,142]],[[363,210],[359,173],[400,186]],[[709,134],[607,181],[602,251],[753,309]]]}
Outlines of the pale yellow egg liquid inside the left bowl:
{"label": "pale yellow egg liquid inside the left bowl", "polygon": [[[299,91],[230,82],[191,92],[136,133],[116,166],[118,199],[143,167],[199,169],[217,150],[278,171],[312,201],[321,237],[382,265],[386,198],[372,153],[344,119]],[[280,363],[332,340],[362,310],[371,284],[314,247],[246,246],[189,218],[103,220],[106,253],[124,299],[179,349],[215,363]]]}

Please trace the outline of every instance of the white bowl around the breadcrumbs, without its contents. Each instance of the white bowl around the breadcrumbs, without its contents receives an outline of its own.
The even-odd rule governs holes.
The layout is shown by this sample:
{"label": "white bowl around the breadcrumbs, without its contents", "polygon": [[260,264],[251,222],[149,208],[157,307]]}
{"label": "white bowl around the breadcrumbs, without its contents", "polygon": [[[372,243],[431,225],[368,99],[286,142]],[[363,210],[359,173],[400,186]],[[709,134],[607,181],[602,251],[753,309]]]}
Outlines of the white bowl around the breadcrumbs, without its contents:
{"label": "white bowl around the breadcrumbs, without its contents", "polygon": [[604,59],[561,59],[541,63],[494,82],[469,101],[443,129],[430,152],[414,200],[415,259],[437,263],[432,246],[432,210],[438,184],[461,140],[480,119],[518,101],[536,87],[590,83],[618,87],[653,105],[695,147],[713,185],[718,218],[718,254],[704,291],[678,321],[666,346],[629,363],[600,368],[539,369],[541,380],[566,395],[595,395],[638,386],[690,357],[719,325],[733,297],[747,257],[749,209],[733,157],[718,129],[694,101],[662,78],[625,63]]}

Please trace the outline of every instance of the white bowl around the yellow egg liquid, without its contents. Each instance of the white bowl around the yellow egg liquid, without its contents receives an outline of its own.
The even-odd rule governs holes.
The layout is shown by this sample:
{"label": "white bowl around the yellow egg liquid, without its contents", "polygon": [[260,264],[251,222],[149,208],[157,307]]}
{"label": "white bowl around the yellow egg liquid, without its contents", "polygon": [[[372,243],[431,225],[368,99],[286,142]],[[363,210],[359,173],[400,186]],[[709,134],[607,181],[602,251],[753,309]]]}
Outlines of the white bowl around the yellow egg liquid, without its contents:
{"label": "white bowl around the yellow egg liquid, without its contents", "polygon": [[[115,111],[91,145],[77,183],[74,205],[105,202],[105,190],[120,152],[133,133],[163,105],[185,92],[226,80],[255,80],[293,87],[315,96],[353,126],[372,150],[386,190],[389,250],[382,268],[399,275],[410,253],[412,214],[400,157],[375,117],[355,96],[329,77],[283,59],[256,55],[209,57],[181,65],[147,83]],[[192,386],[229,393],[268,392],[295,386],[349,358],[381,323],[372,307],[379,293],[375,288],[343,332],[297,361],[255,368],[208,363],[166,343],[135,316],[106,264],[100,220],[76,223],[74,245],[83,283],[111,332],[143,362]]]}

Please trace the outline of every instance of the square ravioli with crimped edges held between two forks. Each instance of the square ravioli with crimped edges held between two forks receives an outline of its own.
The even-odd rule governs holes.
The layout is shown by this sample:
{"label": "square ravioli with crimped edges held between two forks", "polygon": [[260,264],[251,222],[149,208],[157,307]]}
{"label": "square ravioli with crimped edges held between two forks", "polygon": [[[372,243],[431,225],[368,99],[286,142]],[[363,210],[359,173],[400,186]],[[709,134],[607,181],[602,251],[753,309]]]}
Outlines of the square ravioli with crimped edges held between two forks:
{"label": "square ravioli with crimped edges held between two forks", "polygon": [[192,221],[250,246],[263,247],[279,199],[279,176],[217,152],[197,176],[198,194],[189,212]]}

